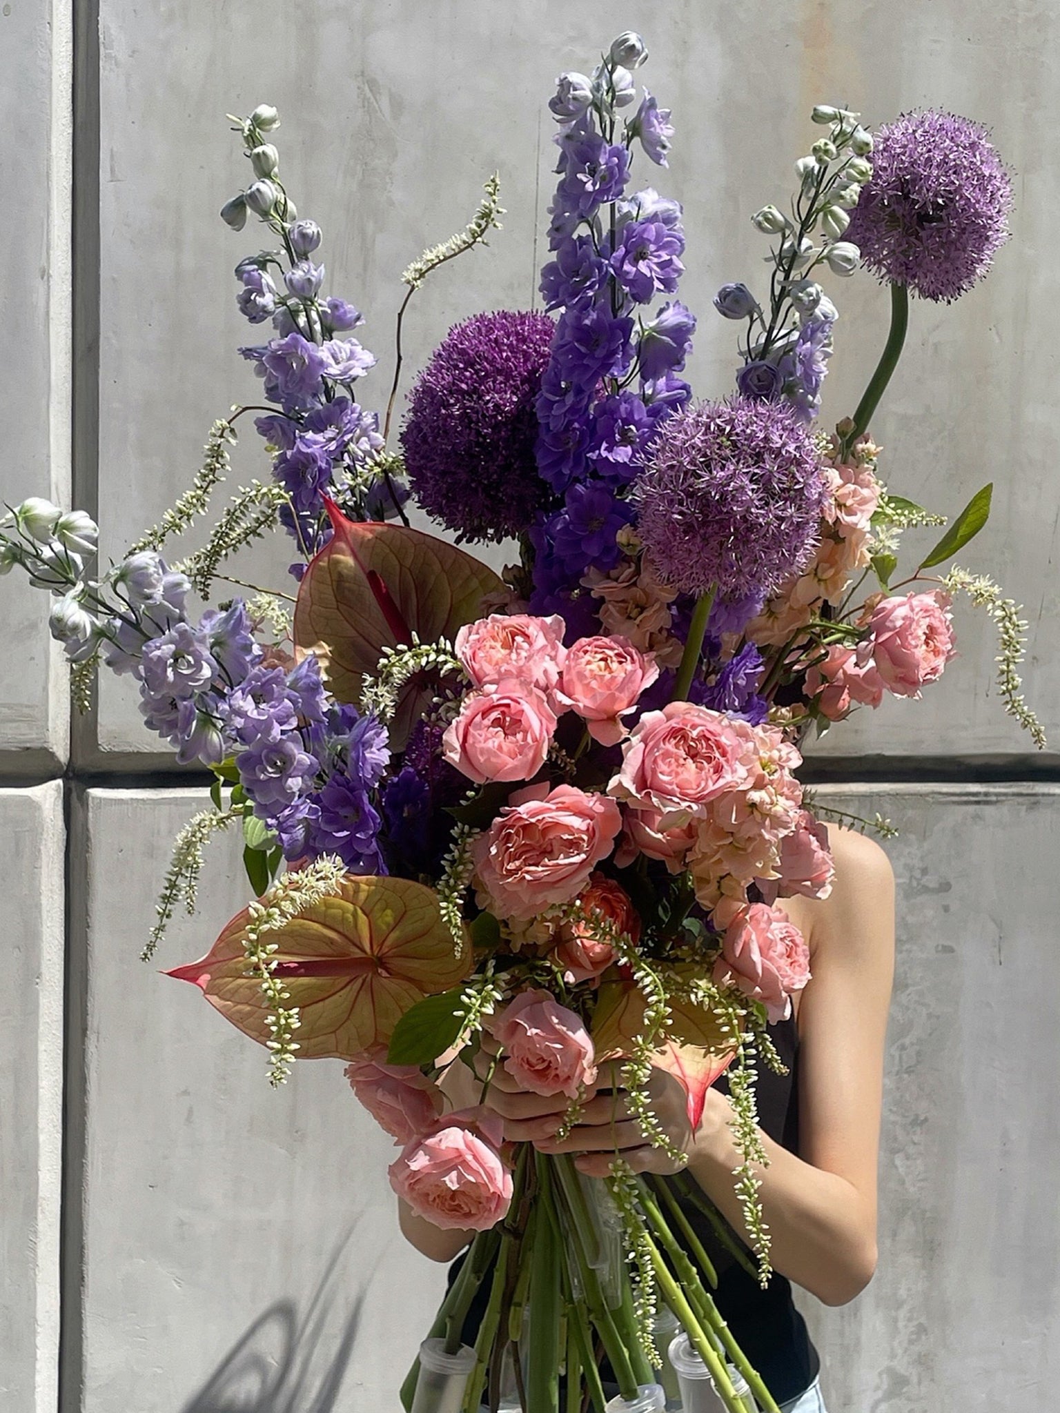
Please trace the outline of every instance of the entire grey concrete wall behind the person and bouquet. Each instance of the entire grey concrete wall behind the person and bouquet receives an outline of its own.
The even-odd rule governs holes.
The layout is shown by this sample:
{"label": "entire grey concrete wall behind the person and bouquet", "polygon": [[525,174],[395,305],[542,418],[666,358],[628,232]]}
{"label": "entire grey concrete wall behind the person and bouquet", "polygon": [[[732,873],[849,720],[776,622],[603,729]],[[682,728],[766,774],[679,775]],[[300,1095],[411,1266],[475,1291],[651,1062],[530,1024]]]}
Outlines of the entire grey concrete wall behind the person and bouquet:
{"label": "entire grey concrete wall behind the person and bouquet", "polygon": [[[531,304],[553,179],[543,105],[554,73],[585,66],[616,28],[644,31],[644,76],[678,124],[670,171],[644,179],[685,202],[683,292],[701,315],[702,394],[728,390],[734,372],[732,329],[709,297],[724,280],[759,277],[748,216],[787,191],[790,161],[814,136],[814,102],[854,103],[871,122],[931,103],[991,124],[1016,172],[1013,242],[957,307],[914,307],[876,434],[892,486],[938,509],[995,480],[994,520],[965,558],[1026,601],[1027,675],[1060,740],[1049,260],[1060,10],[79,0],[73,18],[72,52],[58,0],[0,8],[10,153],[0,490],[65,499],[72,478],[75,502],[99,507],[112,554],[187,483],[212,418],[254,393],[235,355],[246,325],[230,271],[256,236],[216,218],[242,175],[226,112],[281,109],[284,177],[324,226],[329,278],[365,311],[380,356],[365,384],[376,404],[400,270],[465,222],[495,168],[505,230],[417,295],[408,366],[457,318]],[[835,418],[875,362],[886,301],[868,278],[832,292]],[[236,478],[264,471],[250,434]],[[274,545],[236,572],[278,584],[283,558]],[[4,1413],[54,1413],[59,1368],[62,1413],[391,1407],[438,1273],[396,1238],[386,1146],[336,1065],[307,1067],[273,1094],[253,1047],[191,988],[137,962],[170,839],[198,794],[171,788],[171,762],[140,731],[120,681],[103,684],[69,755],[44,603],[13,578],[0,592],[3,935],[14,958],[0,1029]],[[841,779],[879,779],[871,794],[830,788],[902,828],[889,845],[903,903],[881,1273],[849,1310],[814,1314],[840,1413],[1047,1406],[1057,1372],[1060,1232],[1047,1181],[1060,1160],[1057,976],[1046,920],[1057,844],[1049,779],[1060,762],[1036,762],[1042,781],[1020,783],[1027,742],[988,687],[989,629],[962,610],[960,630],[961,657],[930,697],[848,723],[821,749]],[[933,784],[985,766],[996,786]],[[65,786],[45,783],[62,770]],[[910,776],[913,786],[888,783]],[[161,965],[205,950],[242,896],[222,842],[201,920],[178,921]]]}

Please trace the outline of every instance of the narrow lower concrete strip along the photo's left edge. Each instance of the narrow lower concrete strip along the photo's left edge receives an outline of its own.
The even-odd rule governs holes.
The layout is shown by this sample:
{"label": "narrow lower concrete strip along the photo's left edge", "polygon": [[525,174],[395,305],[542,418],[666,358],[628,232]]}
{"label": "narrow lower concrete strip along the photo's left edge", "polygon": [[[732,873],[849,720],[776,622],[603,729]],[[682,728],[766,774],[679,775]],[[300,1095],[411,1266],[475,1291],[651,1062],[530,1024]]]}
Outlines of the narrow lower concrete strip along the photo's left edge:
{"label": "narrow lower concrete strip along the photo's left edge", "polygon": [[0,1406],[54,1413],[59,1352],[62,786],[0,790]]}

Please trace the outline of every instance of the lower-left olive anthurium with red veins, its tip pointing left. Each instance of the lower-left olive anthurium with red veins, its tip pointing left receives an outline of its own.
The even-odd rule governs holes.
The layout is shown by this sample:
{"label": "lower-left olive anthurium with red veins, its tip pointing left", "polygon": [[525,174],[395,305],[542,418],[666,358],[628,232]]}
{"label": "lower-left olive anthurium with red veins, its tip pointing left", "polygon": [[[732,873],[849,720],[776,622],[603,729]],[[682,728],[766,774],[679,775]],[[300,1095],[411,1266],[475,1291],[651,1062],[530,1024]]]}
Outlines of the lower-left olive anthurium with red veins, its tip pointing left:
{"label": "lower-left olive anthurium with red veins, its tip pointing left", "polygon": [[[233,1026],[266,1044],[270,1012],[247,975],[247,921],[239,913],[202,961],[170,975],[194,982]],[[410,879],[346,875],[336,896],[264,940],[276,944],[276,975],[298,1007],[295,1039],[307,1060],[352,1060],[386,1044],[406,1010],[458,985],[472,965],[471,944],[454,942],[437,893]]]}

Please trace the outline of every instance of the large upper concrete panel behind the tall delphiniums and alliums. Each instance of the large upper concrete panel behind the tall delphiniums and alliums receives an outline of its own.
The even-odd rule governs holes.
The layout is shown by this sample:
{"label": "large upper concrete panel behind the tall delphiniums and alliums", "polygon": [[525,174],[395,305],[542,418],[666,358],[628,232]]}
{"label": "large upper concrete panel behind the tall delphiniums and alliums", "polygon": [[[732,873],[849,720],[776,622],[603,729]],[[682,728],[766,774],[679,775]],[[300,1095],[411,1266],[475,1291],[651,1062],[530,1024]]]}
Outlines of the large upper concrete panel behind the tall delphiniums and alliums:
{"label": "large upper concrete panel behind the tall delphiniums and alliums", "polygon": [[[107,547],[117,552],[187,482],[211,420],[256,390],[233,352],[247,329],[235,311],[230,268],[257,237],[235,237],[216,219],[242,172],[223,114],[261,99],[281,109],[284,175],[302,212],[324,226],[336,291],[367,317],[365,339],[380,366],[365,400],[379,406],[397,276],[424,244],[462,225],[493,168],[506,229],[417,295],[408,369],[457,318],[534,301],[536,240],[553,184],[544,100],[557,69],[585,64],[618,20],[602,0],[574,10],[560,0],[447,0],[428,8],[261,0],[235,10],[102,0],[100,10],[100,503]],[[991,281],[960,305],[917,304],[907,360],[876,431],[897,492],[955,509],[996,480],[994,524],[967,560],[996,568],[1027,603],[1036,697],[1060,725],[1060,615],[1049,572],[1059,507],[1057,273],[1044,257],[1060,195],[1047,160],[1060,89],[1046,59],[1060,11],[1032,0],[971,10],[814,0],[783,11],[765,0],[732,10],[688,0],[660,10],[635,0],[620,23],[647,35],[647,82],[678,124],[670,171],[639,167],[642,181],[685,202],[683,292],[701,315],[693,379],[705,396],[726,393],[735,370],[732,325],[714,315],[711,294],[724,280],[760,276],[748,218],[787,192],[790,161],[814,131],[814,102],[847,95],[872,122],[931,103],[995,129],[1018,174],[1015,240]],[[886,297],[871,278],[835,284],[844,317],[830,420],[855,404],[886,324]],[[264,471],[252,444],[249,435],[243,476]],[[276,577],[281,562],[274,552],[260,572]],[[992,632],[970,612],[961,613],[961,651],[927,705],[865,716],[828,749],[936,755],[944,742],[962,753],[1023,752],[1026,739],[987,688]],[[127,684],[103,692],[100,745],[107,753],[151,749]]]}

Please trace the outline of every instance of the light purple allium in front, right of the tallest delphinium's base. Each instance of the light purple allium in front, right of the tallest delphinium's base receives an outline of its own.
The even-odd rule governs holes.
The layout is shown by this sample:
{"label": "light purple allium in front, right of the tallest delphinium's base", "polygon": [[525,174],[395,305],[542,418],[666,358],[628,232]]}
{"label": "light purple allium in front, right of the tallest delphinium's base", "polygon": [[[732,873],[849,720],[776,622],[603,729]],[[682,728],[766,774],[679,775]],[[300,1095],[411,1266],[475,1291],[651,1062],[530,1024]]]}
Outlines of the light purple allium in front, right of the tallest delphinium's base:
{"label": "light purple allium in front, right of the tallest delphinium's base", "polygon": [[814,439],[786,403],[697,403],[660,427],[633,486],[659,575],[684,593],[770,593],[807,562],[824,496]]}

